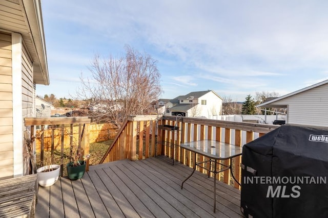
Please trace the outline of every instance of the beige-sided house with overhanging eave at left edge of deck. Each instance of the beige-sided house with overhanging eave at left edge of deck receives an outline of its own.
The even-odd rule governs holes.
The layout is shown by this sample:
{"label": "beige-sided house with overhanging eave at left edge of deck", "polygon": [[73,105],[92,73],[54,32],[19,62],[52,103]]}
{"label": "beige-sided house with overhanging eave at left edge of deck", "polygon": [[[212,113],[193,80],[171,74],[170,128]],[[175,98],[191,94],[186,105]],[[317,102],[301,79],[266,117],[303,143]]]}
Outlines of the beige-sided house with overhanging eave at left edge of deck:
{"label": "beige-sided house with overhanging eave at left edge of deck", "polygon": [[25,117],[35,117],[35,84],[49,85],[39,0],[0,2],[0,179],[28,174]]}

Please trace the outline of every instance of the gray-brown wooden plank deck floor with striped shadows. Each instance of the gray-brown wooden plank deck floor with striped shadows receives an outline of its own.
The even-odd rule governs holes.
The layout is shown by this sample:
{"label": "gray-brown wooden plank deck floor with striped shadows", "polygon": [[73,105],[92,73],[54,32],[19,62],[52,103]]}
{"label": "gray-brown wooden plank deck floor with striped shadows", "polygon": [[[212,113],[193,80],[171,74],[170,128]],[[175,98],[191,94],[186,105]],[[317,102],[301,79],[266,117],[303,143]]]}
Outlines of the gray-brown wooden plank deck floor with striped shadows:
{"label": "gray-brown wooden plank deck floor with striped shadows", "polygon": [[90,166],[80,180],[39,187],[35,217],[243,217],[240,191],[159,156]]}

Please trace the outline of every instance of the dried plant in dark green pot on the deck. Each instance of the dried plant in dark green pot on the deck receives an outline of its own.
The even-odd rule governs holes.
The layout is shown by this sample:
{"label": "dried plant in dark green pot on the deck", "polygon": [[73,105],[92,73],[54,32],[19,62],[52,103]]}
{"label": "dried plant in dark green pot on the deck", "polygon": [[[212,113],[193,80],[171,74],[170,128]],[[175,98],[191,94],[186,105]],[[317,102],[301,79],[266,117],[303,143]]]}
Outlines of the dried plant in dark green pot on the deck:
{"label": "dried plant in dark green pot on the deck", "polygon": [[86,171],[86,161],[89,159],[90,154],[83,156],[83,149],[77,147],[77,143],[70,135],[72,143],[70,147],[70,162],[66,165],[68,178],[77,180],[83,177]]}

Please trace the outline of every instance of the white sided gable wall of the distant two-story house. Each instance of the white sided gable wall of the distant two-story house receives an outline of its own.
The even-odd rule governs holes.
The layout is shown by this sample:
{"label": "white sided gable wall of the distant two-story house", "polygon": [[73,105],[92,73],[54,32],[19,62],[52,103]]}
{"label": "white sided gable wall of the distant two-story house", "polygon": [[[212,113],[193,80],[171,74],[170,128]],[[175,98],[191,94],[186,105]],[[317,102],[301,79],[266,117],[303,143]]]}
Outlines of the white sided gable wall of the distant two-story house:
{"label": "white sided gable wall of the distant two-story house", "polygon": [[[202,100],[206,100],[206,105],[201,104]],[[213,118],[213,116],[221,114],[222,99],[211,91],[198,98],[196,107],[199,110],[199,113],[197,112],[199,116]]]}

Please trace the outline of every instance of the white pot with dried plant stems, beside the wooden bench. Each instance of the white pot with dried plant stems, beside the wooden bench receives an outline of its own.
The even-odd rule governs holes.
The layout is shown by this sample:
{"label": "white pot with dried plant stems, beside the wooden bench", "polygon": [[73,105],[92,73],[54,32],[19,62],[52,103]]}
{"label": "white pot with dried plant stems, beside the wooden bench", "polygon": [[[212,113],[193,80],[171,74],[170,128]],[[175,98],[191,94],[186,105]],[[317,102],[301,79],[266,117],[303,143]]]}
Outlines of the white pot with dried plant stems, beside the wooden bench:
{"label": "white pot with dried plant stems, beside the wooden bench", "polygon": [[55,184],[59,178],[60,165],[52,164],[51,160],[52,157],[50,157],[50,154],[48,153],[46,165],[36,170],[40,186],[51,186]]}

